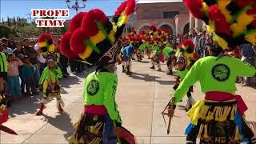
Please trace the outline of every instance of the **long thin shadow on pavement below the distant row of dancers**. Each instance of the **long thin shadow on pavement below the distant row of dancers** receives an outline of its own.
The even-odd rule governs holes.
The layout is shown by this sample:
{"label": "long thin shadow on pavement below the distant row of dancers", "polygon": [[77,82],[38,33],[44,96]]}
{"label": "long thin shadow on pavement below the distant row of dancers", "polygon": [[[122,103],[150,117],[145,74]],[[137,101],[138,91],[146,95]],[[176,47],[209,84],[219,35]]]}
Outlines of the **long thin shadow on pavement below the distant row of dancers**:
{"label": "long thin shadow on pavement below the distant row of dancers", "polygon": [[139,74],[133,72],[133,74],[129,75],[130,78],[139,79],[146,82],[158,82],[161,85],[174,85],[174,81],[163,81],[159,80],[157,76],[152,76],[150,74]]}

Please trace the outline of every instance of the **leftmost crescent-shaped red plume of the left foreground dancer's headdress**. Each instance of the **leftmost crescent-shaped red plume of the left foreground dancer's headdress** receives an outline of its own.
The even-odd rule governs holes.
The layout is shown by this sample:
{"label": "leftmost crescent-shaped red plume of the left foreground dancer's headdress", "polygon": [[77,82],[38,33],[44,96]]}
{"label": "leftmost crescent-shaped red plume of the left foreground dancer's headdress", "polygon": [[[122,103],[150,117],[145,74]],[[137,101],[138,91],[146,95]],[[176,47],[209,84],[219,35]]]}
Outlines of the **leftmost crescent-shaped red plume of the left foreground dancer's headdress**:
{"label": "leftmost crescent-shaped red plume of the left foreground dancer's headdress", "polygon": [[62,36],[62,41],[60,44],[60,51],[67,58],[78,58],[78,54],[75,54],[74,51],[70,49],[71,35],[72,35],[72,33],[70,31],[68,31]]}

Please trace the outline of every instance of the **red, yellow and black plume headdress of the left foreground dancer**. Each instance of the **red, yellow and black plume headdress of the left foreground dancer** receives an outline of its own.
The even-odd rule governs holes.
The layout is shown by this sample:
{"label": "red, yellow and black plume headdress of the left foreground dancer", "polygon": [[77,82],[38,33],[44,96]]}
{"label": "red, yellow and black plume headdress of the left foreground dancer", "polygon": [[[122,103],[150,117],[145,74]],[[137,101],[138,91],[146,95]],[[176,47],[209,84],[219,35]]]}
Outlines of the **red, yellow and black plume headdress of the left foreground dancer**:
{"label": "red, yellow and black plume headdress of the left foreground dancer", "polygon": [[61,50],[69,58],[82,58],[98,62],[121,37],[130,15],[136,10],[136,2],[122,2],[114,14],[113,22],[102,10],[79,13],[70,21],[70,30],[62,37]]}

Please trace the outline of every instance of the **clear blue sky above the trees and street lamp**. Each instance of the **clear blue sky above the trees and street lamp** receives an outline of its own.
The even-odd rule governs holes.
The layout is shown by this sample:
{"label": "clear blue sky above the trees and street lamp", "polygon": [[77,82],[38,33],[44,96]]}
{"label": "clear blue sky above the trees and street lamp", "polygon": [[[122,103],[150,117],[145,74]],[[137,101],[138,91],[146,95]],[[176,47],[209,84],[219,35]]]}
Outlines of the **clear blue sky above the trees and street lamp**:
{"label": "clear blue sky above the trees and street lamp", "polygon": [[[88,11],[95,8],[103,10],[106,15],[113,15],[114,11],[124,0],[87,0],[87,6],[85,9],[78,11]],[[21,18],[29,18],[31,9],[66,9],[66,0],[0,0],[0,21],[14,16],[20,16]],[[78,0],[82,6],[82,0]],[[74,4],[74,0],[71,0],[71,4]],[[75,10],[70,10],[70,18],[76,14]]]}

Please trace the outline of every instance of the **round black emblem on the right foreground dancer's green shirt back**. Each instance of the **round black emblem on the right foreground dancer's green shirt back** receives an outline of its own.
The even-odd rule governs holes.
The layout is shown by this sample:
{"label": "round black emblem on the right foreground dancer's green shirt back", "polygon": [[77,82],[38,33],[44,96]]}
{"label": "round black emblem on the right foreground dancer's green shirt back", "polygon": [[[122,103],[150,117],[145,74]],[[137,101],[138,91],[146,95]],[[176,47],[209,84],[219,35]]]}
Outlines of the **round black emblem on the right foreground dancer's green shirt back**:
{"label": "round black emblem on the right foreground dancer's green shirt back", "polygon": [[217,81],[226,81],[230,78],[230,68],[224,64],[218,64],[213,67],[211,74]]}

